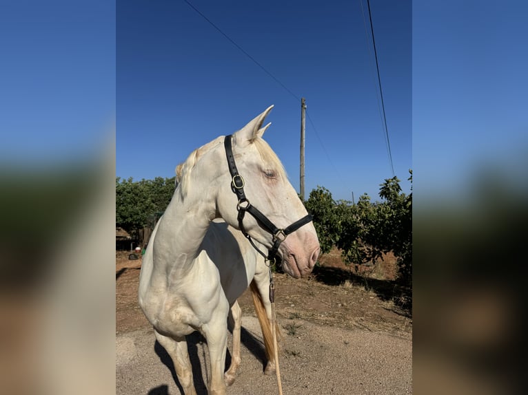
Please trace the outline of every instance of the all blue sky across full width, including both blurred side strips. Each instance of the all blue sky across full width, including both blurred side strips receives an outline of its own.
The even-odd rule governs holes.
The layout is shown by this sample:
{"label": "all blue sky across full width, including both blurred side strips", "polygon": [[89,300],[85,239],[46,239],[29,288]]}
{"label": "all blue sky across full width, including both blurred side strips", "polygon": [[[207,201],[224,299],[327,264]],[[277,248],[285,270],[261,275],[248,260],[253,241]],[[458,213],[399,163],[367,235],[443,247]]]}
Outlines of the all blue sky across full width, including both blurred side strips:
{"label": "all blue sky across full width, including both blurred side strips", "polygon": [[[266,138],[298,187],[304,96],[306,193],[374,199],[392,176],[359,1],[193,1],[294,95],[183,0],[4,3],[2,167],[93,158],[115,121],[116,175],[172,177],[192,149],[274,104]],[[412,22],[402,4],[371,0],[404,190],[409,167],[425,200],[460,193],[486,167],[528,180],[525,1],[414,1]]]}

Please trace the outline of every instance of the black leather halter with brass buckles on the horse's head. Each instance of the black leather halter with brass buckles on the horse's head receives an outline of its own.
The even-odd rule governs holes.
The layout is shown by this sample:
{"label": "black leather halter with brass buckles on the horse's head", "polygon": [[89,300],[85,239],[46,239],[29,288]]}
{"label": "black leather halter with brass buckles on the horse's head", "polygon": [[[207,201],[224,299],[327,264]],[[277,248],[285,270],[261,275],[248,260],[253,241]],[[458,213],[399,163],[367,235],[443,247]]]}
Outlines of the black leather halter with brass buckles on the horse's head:
{"label": "black leather halter with brass buckles on the horse's head", "polygon": [[[238,211],[238,226],[240,227],[243,235],[247,237],[248,240],[250,240],[250,243],[258,251],[258,253],[260,253],[265,259],[270,261],[270,263],[273,263],[275,256],[278,252],[278,246],[280,246],[281,243],[286,239],[287,235],[290,235],[290,233],[293,233],[298,228],[301,228],[301,226],[312,221],[312,215],[308,214],[305,217],[302,217],[301,220],[294,222],[290,226],[287,226],[284,229],[279,229],[275,226],[273,222],[268,220],[267,217],[263,213],[261,213],[261,211],[258,211],[258,209],[252,206],[250,204],[250,201],[247,200],[247,197],[245,197],[244,179],[240,174],[238,174],[238,170],[236,169],[233,150],[231,147],[232,137],[233,135],[225,136],[224,146],[225,155],[227,156],[227,165],[229,166],[229,171],[232,177],[231,189],[234,193],[236,193],[236,197],[238,197],[238,204],[236,204],[236,210]],[[258,225],[261,226],[261,228],[263,228],[265,231],[272,235],[273,246],[271,250],[268,251],[267,256],[265,255],[265,253],[263,253],[257,248],[250,235],[247,234],[247,232],[245,231],[243,219],[246,212],[250,213],[255,218],[256,222],[258,222]]]}

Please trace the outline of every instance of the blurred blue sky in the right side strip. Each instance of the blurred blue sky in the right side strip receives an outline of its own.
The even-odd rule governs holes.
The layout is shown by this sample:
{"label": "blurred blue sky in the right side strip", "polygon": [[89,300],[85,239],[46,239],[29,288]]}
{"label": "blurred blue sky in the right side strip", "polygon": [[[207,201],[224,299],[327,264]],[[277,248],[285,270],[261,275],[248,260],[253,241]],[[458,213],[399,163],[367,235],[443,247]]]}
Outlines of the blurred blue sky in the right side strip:
{"label": "blurred blue sky in the right side strip", "polygon": [[467,195],[489,169],[528,191],[527,15],[520,0],[414,2],[413,190],[421,202]]}

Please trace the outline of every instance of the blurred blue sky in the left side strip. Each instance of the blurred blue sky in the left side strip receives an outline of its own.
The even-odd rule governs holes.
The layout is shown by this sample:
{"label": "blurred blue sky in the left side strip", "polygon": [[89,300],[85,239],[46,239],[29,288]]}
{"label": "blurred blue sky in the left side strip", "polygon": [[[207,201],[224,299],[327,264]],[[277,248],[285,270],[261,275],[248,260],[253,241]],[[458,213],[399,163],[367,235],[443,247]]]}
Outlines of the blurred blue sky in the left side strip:
{"label": "blurred blue sky in the left side strip", "polygon": [[114,123],[114,4],[4,1],[0,37],[0,162],[90,160]]}

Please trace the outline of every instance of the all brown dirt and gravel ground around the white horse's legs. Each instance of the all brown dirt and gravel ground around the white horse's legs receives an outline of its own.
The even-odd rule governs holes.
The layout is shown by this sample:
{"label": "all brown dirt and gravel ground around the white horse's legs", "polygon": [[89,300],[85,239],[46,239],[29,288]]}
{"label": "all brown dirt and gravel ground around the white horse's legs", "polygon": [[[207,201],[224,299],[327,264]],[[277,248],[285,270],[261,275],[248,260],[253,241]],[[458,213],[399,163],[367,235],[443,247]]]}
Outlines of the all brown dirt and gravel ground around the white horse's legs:
{"label": "all brown dirt and gravel ground around the white horse's legs", "polygon": [[[129,254],[116,252],[116,394],[179,394],[172,362],[137,303],[141,259]],[[283,393],[412,394],[410,297],[394,283],[394,257],[354,268],[332,250],[319,263],[306,279],[274,274]],[[250,293],[238,301],[242,365],[228,394],[275,394],[275,377],[263,375]],[[193,366],[201,365],[194,366],[196,389],[206,394],[207,345],[199,334],[187,343]]]}

